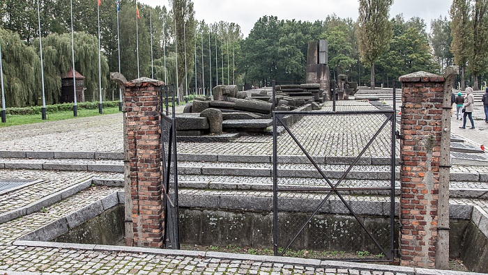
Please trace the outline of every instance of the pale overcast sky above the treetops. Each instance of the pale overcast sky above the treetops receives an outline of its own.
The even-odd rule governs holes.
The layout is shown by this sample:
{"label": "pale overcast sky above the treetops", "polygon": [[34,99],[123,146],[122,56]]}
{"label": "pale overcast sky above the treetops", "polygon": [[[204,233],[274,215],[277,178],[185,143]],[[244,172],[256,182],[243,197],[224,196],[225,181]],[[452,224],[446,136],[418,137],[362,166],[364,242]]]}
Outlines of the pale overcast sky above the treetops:
{"label": "pale overcast sky above the treetops", "polygon": [[[139,0],[150,6],[168,6],[168,0]],[[235,22],[241,26],[244,37],[254,23],[264,15],[278,19],[297,19],[314,22],[335,13],[346,18],[358,18],[357,0],[193,0],[195,17],[213,23]],[[427,31],[430,21],[439,16],[449,17],[450,0],[395,0],[390,17],[403,13],[405,19],[418,16],[425,19]]]}

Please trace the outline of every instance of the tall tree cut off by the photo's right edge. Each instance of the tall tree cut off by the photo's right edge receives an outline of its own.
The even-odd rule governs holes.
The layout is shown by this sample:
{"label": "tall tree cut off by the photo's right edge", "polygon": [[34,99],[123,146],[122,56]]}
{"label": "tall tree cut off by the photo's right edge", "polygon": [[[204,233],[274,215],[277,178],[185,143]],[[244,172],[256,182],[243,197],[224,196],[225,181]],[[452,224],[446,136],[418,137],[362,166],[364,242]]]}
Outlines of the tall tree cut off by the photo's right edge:
{"label": "tall tree cut off by the photo's right edge", "polygon": [[471,13],[473,47],[468,61],[468,70],[473,73],[473,89],[479,90],[478,76],[487,68],[488,57],[488,1],[475,0]]}

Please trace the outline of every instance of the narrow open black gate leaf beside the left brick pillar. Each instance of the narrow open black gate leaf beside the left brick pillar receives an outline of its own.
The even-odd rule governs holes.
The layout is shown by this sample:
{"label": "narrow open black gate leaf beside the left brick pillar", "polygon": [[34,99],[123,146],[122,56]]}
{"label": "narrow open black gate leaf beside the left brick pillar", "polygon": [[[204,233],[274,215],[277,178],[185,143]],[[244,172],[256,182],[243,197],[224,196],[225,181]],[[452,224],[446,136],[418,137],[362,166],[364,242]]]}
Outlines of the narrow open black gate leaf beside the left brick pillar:
{"label": "narrow open black gate leaf beside the left brick pillar", "polygon": [[[168,90],[165,87],[161,94],[164,98],[165,111],[161,111],[161,143],[162,143],[162,200],[165,204],[165,244],[167,249],[180,249],[178,223],[178,166],[176,158],[176,120],[174,86],[171,85],[172,109],[169,113]],[[163,109],[162,109],[163,110]]]}

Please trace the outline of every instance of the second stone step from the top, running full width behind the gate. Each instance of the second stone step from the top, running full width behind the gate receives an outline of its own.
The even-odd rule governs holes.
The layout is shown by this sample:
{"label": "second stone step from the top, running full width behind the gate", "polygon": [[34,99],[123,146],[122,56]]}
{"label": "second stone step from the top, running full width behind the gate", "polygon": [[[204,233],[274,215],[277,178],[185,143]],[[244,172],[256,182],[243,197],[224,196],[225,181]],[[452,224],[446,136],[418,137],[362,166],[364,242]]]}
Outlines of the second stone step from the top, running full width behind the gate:
{"label": "second stone step from the top, running full width behind the gate", "polygon": [[[318,164],[328,178],[341,178],[349,168],[348,164]],[[0,168],[59,170],[59,171],[96,171],[123,173],[123,162],[116,160],[93,159],[0,159]],[[179,175],[230,175],[272,177],[273,164],[259,162],[183,162],[178,160]],[[388,180],[390,166],[358,164],[353,166],[346,179],[351,180]],[[277,175],[284,178],[322,178],[312,164],[279,163]],[[399,179],[399,166],[395,178]],[[457,182],[488,182],[487,166],[452,166],[450,180]]]}

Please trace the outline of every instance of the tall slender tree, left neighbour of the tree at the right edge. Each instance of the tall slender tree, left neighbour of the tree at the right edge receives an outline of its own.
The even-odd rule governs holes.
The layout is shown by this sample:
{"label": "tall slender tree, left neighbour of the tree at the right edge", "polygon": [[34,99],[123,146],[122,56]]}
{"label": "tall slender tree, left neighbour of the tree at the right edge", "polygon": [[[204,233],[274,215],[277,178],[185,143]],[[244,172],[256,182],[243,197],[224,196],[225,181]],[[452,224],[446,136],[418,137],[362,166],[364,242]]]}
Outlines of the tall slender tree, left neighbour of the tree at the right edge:
{"label": "tall slender tree, left neighbour of the tree at the right edge", "polygon": [[451,52],[454,62],[461,67],[461,89],[464,91],[464,74],[466,63],[473,45],[473,29],[470,22],[470,1],[453,0],[449,14],[451,17],[452,43]]}

